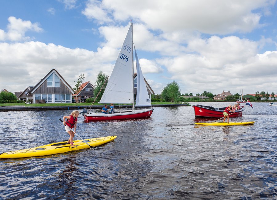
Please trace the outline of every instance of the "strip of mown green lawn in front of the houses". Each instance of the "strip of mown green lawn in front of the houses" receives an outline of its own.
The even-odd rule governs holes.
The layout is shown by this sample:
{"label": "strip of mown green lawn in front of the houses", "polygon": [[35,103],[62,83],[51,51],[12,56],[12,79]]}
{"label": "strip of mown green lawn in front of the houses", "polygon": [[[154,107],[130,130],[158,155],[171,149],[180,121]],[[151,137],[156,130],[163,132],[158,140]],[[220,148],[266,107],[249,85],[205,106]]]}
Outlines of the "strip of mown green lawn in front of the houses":
{"label": "strip of mown green lawn in front of the houses", "polygon": [[[152,105],[162,105],[162,104],[179,104],[171,102],[151,102]],[[90,106],[92,103],[0,103],[0,106]],[[94,103],[93,105],[104,105],[103,103]],[[126,105],[126,104],[122,104]]]}

